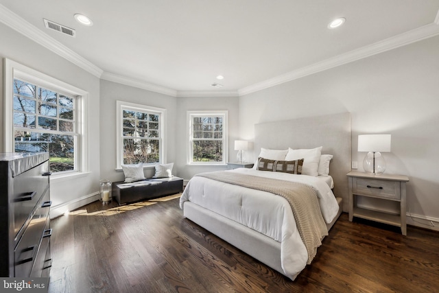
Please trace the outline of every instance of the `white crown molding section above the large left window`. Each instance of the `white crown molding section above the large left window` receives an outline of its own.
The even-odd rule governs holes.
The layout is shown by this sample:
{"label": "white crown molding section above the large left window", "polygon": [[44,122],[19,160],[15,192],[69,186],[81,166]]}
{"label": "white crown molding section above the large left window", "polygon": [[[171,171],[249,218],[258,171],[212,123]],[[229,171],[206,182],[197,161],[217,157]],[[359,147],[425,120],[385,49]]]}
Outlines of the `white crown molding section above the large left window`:
{"label": "white crown molding section above the large left window", "polygon": [[89,62],[82,56],[76,54],[74,51],[69,49],[68,47],[62,45],[58,40],[51,38],[51,36],[45,34],[41,30],[39,30],[34,25],[31,25],[25,19],[22,19],[19,15],[15,14],[5,6],[0,4],[0,22],[11,27],[12,30],[16,30],[23,36],[34,40],[34,42],[42,45],[43,47],[53,51],[55,54],[58,54],[62,58],[69,60],[74,65],[81,67],[85,71],[95,75],[97,78],[100,78],[102,75],[102,69]]}

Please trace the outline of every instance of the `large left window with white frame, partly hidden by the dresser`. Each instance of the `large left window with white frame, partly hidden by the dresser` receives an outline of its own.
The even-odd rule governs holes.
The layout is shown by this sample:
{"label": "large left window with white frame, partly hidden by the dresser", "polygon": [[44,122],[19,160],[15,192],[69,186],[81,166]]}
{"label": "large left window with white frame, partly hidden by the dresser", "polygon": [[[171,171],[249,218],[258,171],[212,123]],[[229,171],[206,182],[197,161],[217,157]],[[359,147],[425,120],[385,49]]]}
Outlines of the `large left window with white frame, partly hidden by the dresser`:
{"label": "large left window with white frame, partly hidden by the dresser", "polygon": [[10,60],[5,69],[5,151],[49,152],[54,175],[85,172],[87,93]]}

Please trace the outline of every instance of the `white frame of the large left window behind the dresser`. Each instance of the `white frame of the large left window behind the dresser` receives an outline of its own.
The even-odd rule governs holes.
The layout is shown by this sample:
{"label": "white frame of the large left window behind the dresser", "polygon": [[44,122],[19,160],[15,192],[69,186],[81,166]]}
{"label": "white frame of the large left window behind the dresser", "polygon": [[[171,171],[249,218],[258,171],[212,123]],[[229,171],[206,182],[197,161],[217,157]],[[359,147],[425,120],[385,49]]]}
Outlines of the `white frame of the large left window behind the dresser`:
{"label": "white frame of the large left window behind the dresser", "polygon": [[75,130],[79,134],[75,145],[75,169],[66,172],[56,172],[51,179],[70,176],[83,176],[89,173],[88,160],[88,103],[89,94],[71,84],[52,78],[18,62],[4,58],[5,83],[4,83],[4,145],[5,152],[14,152],[14,79],[29,82],[38,86],[51,89],[58,93],[75,97],[76,117]]}

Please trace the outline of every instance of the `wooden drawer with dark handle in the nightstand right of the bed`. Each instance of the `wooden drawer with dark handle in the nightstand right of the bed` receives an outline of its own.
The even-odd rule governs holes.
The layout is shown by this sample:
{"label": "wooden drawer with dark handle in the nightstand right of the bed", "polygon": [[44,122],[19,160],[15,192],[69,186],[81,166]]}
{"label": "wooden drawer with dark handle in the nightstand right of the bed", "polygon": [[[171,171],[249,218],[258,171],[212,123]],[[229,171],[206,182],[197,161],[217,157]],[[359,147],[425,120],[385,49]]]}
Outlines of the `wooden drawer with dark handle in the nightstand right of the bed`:
{"label": "wooden drawer with dark handle in the nightstand right of the bed", "polygon": [[401,199],[399,181],[371,178],[354,178],[353,193],[377,198]]}

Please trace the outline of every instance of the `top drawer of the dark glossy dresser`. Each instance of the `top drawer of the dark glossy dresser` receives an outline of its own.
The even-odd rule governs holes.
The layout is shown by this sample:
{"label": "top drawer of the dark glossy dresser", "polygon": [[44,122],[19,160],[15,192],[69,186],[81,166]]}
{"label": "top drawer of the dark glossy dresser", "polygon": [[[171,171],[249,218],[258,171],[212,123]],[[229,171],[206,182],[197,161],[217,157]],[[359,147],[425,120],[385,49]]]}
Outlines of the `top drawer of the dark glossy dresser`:
{"label": "top drawer of the dark glossy dresser", "polygon": [[49,161],[46,161],[14,177],[14,235],[32,215],[36,203],[48,187],[49,176],[43,176],[48,171]]}

